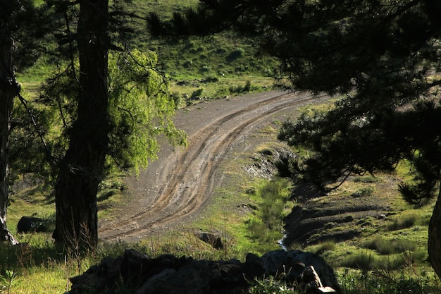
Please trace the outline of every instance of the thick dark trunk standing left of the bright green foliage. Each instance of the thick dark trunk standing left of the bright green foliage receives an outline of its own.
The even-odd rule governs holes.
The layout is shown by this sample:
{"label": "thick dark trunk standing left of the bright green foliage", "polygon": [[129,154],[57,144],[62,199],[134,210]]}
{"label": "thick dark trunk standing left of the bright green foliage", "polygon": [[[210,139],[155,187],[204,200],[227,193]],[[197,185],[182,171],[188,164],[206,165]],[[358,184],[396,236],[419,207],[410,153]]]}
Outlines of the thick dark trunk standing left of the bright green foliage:
{"label": "thick dark trunk standing left of the bright green foliage", "polygon": [[108,0],[79,3],[78,112],[55,187],[54,238],[70,250],[97,245],[97,192],[108,147]]}

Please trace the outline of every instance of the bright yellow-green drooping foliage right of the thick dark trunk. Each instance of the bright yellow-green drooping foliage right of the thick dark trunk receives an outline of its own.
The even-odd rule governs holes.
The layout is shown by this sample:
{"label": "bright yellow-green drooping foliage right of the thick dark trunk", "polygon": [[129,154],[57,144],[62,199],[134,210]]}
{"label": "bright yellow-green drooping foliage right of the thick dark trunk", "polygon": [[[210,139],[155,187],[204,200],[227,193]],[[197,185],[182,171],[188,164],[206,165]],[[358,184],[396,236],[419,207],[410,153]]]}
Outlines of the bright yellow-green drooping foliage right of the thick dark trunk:
{"label": "bright yellow-green drooping foliage right of the thick dark trunk", "polygon": [[109,155],[125,169],[139,171],[155,159],[160,134],[172,145],[186,144],[185,133],[173,125],[175,104],[157,62],[153,51],[125,51],[109,58]]}

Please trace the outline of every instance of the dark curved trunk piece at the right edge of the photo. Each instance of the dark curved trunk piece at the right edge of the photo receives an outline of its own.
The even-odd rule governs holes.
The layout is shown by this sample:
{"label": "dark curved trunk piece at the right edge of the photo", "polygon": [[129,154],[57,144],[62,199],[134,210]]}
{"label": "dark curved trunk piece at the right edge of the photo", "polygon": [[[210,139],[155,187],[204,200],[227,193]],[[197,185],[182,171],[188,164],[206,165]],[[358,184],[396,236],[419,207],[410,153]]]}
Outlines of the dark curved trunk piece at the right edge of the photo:
{"label": "dark curved trunk piece at the right edge of the photo", "polygon": [[441,187],[430,218],[428,252],[435,273],[441,277]]}

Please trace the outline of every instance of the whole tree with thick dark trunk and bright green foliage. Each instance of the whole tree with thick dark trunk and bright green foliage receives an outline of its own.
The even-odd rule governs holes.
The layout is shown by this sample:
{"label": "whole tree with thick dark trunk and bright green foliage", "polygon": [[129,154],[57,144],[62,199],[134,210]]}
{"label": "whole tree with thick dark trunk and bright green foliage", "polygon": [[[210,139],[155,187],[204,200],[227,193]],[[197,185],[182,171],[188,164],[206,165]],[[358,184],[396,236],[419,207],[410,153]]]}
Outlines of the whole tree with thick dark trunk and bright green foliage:
{"label": "whole tree with thick dark trunk and bright green foliage", "polygon": [[122,3],[48,2],[64,16],[56,49],[64,69],[48,80],[42,96],[52,111],[46,118],[58,118],[59,127],[46,134],[56,173],[53,237],[75,252],[97,245],[97,192],[109,166],[147,166],[159,134],[173,144],[186,142],[172,123],[175,106],[156,56],[130,52],[120,39],[128,31]]}

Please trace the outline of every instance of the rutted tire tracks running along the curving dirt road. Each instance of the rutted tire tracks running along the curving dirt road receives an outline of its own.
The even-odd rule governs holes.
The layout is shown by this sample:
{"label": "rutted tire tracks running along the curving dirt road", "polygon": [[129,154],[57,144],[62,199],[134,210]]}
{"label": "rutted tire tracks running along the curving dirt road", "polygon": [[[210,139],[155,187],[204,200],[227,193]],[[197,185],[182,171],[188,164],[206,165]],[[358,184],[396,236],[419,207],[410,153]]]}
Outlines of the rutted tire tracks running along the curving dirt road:
{"label": "rutted tire tracks running along the curving dirt road", "polygon": [[168,158],[161,157],[160,165],[156,166],[154,184],[151,185],[153,188],[132,182],[131,192],[135,197],[135,205],[123,209],[128,213],[120,216],[116,222],[100,223],[100,238],[119,238],[130,242],[147,237],[152,231],[161,231],[168,224],[198,212],[208,202],[218,180],[215,173],[235,141],[243,140],[254,126],[278,111],[306,104],[317,97],[311,94],[271,92],[261,94],[259,99],[252,99],[230,111],[223,111],[223,115],[216,115],[199,130],[194,127],[192,129],[189,123],[187,128],[190,129],[187,131],[191,133],[187,149],[164,152],[163,156],[168,155]]}

